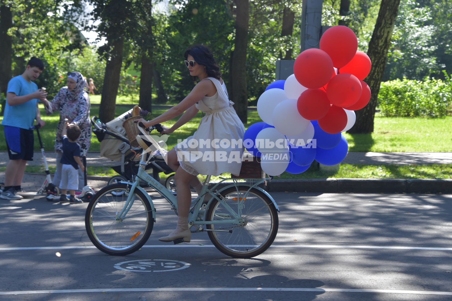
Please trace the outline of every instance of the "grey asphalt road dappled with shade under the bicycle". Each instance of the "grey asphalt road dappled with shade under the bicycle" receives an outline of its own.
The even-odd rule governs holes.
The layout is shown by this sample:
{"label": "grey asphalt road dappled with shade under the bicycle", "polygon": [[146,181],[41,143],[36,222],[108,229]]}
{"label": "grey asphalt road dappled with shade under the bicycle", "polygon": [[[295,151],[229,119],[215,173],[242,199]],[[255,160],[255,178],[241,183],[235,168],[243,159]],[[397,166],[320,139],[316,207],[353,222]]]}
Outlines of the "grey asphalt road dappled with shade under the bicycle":
{"label": "grey asphalt road dappled with shade under the bicycle", "polygon": [[0,200],[0,300],[452,299],[452,195],[272,195],[278,236],[253,259],[226,257],[206,233],[158,241],[176,217],[153,193],[151,238],[123,257],[91,244],[87,204]]}

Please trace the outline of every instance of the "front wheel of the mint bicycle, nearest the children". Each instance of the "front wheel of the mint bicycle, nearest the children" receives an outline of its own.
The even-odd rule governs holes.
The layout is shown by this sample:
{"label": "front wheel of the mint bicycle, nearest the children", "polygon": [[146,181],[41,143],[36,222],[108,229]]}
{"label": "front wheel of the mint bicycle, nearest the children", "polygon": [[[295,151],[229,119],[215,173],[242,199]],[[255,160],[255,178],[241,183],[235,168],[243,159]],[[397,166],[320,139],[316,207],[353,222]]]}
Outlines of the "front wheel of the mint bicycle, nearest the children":
{"label": "front wheel of the mint bicycle, nearest the children", "polygon": [[[129,185],[130,188],[130,185]],[[94,232],[94,227],[93,227],[93,208],[96,208],[95,206],[97,204],[99,204],[99,199],[103,198],[104,195],[107,195],[108,192],[112,192],[113,190],[127,190],[127,184],[125,183],[117,183],[117,184],[112,184],[112,185],[108,185],[105,186],[104,188],[102,188],[101,190],[99,190],[95,195],[94,198],[91,199],[91,201],[88,204],[88,207],[86,208],[86,213],[85,213],[85,228],[86,228],[86,233],[88,234],[88,237],[90,239],[90,241],[96,246],[96,248],[98,248],[99,250],[101,250],[102,252],[108,254],[108,255],[115,255],[115,256],[124,256],[124,255],[128,255],[128,254],[132,254],[133,252],[139,250],[145,243],[146,241],[149,239],[149,236],[151,235],[152,232],[152,228],[154,227],[154,219],[152,218],[152,208],[151,208],[151,204],[149,204],[146,196],[140,191],[140,190],[135,190],[134,194],[138,197],[138,200],[141,202],[141,204],[143,204],[145,212],[144,213],[139,213],[139,214],[135,214],[135,215],[141,215],[140,217],[141,219],[144,219],[144,216],[146,216],[146,225],[143,226],[139,226],[139,228],[143,228],[143,232],[140,236],[140,234],[137,235],[138,232],[135,232],[138,228],[138,226],[134,229],[132,228],[131,221],[129,221],[129,226],[127,226],[126,222],[124,222],[121,226],[121,228],[119,229],[119,226],[117,226],[117,228],[119,229],[119,231],[122,231],[122,233],[128,233],[128,235],[130,236],[130,234],[135,233],[137,236],[136,238],[139,238],[138,241],[136,241],[135,243],[133,243],[132,245],[126,246],[126,247],[122,247],[122,248],[113,248],[112,246],[108,246],[106,245],[107,240],[103,241],[102,239],[99,239],[98,235]],[[114,198],[122,198],[125,204],[125,200],[127,199],[127,195],[125,194],[118,194],[118,195],[112,195],[112,200]],[[136,197],[135,197],[136,198]],[[102,200],[102,199],[101,199]],[[108,200],[108,197],[107,197]],[[137,202],[137,200],[135,200],[135,202]],[[134,205],[135,205],[134,202]],[[111,202],[110,202],[111,203]],[[102,204],[102,203],[100,203]],[[137,206],[141,206],[141,204],[137,204]],[[113,208],[114,205],[110,206],[110,208],[112,209],[116,209],[116,211],[121,211],[122,206],[116,206],[116,208]],[[104,206],[104,208],[108,209],[108,206]],[[137,210],[137,209],[135,209]],[[105,211],[105,209],[104,209]],[[132,210],[129,211],[129,213],[131,213]],[[113,210],[114,212],[114,210]],[[103,215],[107,216],[105,213],[107,213],[107,211],[102,212]],[[133,213],[133,212],[132,212]],[[108,216],[107,216],[108,217]],[[114,219],[113,216],[110,215],[109,218]],[[110,222],[110,219],[106,219],[108,220],[108,222]],[[129,217],[130,218],[130,217]],[[127,216],[126,216],[127,219]],[[133,221],[133,220],[132,220]],[[107,223],[108,225],[108,222]],[[112,224],[114,224],[115,222],[118,223],[118,221],[115,219]],[[119,222],[123,222],[123,221],[119,221]],[[100,227],[104,227],[104,226],[100,226]],[[111,226],[110,226],[111,227]],[[127,228],[128,227],[128,228]],[[108,228],[109,229],[109,228]],[[107,230],[108,230],[107,229]],[[133,230],[133,231],[130,231]],[[112,230],[113,231],[113,230]],[[130,231],[130,232],[129,232]],[[99,234],[99,233],[98,233]],[[116,235],[117,232],[114,233],[114,235]],[[118,235],[120,236],[120,233],[118,232]],[[125,238],[128,238],[129,236],[124,235]],[[133,236],[132,236],[133,237]],[[135,240],[136,238],[130,239],[130,241]],[[125,241],[125,239],[123,239]],[[115,241],[113,241],[115,242]],[[112,244],[113,244],[112,242]],[[119,243],[119,242],[118,242]]]}

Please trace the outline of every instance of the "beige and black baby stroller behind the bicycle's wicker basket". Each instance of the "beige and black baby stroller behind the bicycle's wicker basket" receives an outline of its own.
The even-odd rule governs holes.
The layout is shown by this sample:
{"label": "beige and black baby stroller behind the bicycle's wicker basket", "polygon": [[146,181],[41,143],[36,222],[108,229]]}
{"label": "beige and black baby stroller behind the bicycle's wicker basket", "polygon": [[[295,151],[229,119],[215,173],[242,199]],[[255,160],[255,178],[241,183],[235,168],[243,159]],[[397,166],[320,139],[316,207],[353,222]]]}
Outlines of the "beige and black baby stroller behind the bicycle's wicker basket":
{"label": "beige and black baby stroller behind the bicycle's wicker basket", "polygon": [[[100,156],[113,161],[119,161],[119,165],[112,167],[118,175],[112,176],[108,180],[108,185],[121,181],[134,181],[134,177],[138,171],[140,163],[139,155],[141,154],[142,148],[136,148],[130,145],[126,131],[122,127],[123,116],[127,115],[130,111],[125,112],[106,124],[102,123],[96,116],[91,118],[93,133],[100,142]],[[163,143],[163,141],[159,141],[160,143]],[[160,152],[156,151],[152,155],[151,160],[146,166],[146,171],[152,174],[152,177],[157,181],[160,181],[160,172],[164,172],[165,175],[173,173],[173,175],[166,179],[165,186],[175,192],[174,171],[166,164]],[[140,185],[141,187],[147,186],[144,182]]]}

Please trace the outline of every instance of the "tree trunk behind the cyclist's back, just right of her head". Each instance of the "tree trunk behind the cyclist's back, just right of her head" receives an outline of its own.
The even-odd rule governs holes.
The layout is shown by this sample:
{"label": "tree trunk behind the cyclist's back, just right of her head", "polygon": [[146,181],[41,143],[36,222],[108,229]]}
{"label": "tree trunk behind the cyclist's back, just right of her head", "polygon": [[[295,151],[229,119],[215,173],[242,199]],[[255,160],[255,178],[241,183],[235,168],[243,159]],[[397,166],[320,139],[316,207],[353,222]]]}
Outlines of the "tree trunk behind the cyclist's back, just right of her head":
{"label": "tree trunk behind the cyclist's back, just right of her head", "polygon": [[249,0],[235,0],[234,55],[232,58],[232,101],[243,123],[248,118],[248,93],[246,90],[246,48],[248,46]]}

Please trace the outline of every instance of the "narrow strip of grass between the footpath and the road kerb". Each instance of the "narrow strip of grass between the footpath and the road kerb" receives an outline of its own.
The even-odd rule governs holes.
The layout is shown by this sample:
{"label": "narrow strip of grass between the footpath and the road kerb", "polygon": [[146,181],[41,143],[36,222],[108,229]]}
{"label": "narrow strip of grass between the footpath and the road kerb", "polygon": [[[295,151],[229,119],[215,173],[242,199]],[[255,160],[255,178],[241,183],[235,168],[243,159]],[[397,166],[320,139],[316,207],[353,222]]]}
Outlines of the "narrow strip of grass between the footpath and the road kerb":
{"label": "narrow strip of grass between the footpath and the road kerb", "polygon": [[[5,167],[0,167],[5,171]],[[44,173],[44,167],[27,166],[26,172]],[[50,167],[50,172],[55,172],[55,167]],[[88,176],[114,176],[117,173],[109,167],[88,167]],[[160,174],[162,179],[169,175]],[[231,174],[224,173],[222,177],[229,178]],[[206,176],[198,176],[204,180]],[[292,175],[284,172],[280,178],[275,179],[325,179],[325,178],[349,178],[349,179],[452,179],[452,164],[431,165],[363,165],[340,164],[339,171],[320,171],[312,165],[307,171]],[[220,181],[218,176],[212,176],[211,181]]]}

